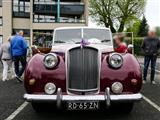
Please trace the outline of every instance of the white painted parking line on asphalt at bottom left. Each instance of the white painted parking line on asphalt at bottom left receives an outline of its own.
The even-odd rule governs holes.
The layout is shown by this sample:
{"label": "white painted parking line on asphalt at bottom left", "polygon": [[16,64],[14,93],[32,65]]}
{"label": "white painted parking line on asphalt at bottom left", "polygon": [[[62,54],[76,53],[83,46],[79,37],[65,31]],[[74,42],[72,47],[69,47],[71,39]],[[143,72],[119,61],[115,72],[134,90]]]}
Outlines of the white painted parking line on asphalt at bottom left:
{"label": "white painted parking line on asphalt at bottom left", "polygon": [[28,102],[24,102],[19,108],[17,108],[8,118],[5,120],[13,120],[26,106]]}

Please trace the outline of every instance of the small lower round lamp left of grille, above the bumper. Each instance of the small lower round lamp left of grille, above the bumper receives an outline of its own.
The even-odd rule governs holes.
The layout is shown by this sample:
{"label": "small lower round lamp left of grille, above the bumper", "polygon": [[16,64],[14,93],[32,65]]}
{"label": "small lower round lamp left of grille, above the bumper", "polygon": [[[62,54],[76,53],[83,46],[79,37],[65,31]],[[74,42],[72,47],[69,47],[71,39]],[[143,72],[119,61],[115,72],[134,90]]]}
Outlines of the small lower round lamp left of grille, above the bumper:
{"label": "small lower round lamp left of grille, above the bumper", "polygon": [[55,93],[56,91],[56,86],[53,83],[47,83],[44,87],[45,93],[51,95],[53,93]]}

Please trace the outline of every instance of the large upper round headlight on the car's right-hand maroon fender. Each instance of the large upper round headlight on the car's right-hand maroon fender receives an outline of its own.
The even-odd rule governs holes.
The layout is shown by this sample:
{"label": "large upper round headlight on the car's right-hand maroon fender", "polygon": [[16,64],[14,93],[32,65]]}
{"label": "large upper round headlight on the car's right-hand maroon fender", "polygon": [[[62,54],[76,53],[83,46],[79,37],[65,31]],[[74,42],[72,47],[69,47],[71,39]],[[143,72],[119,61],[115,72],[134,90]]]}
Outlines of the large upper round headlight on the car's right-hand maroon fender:
{"label": "large upper round headlight on the car's right-hand maroon fender", "polygon": [[120,68],[123,64],[123,58],[120,54],[114,53],[109,57],[109,64],[113,68]]}

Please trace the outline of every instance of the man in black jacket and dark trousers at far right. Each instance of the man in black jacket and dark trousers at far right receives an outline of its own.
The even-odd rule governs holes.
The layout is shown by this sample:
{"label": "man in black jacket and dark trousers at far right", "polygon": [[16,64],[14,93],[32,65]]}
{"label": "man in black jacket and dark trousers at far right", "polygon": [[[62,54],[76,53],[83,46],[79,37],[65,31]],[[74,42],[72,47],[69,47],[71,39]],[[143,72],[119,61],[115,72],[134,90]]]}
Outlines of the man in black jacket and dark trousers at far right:
{"label": "man in black jacket and dark trousers at far right", "polygon": [[158,51],[160,49],[160,41],[156,38],[155,31],[149,31],[148,37],[146,37],[142,43],[142,50],[145,55],[144,57],[144,71],[143,71],[143,83],[146,82],[147,79],[147,71],[148,66],[151,62],[151,76],[150,80],[152,84],[155,84],[154,77],[155,77],[155,67],[156,67],[156,60],[158,56]]}

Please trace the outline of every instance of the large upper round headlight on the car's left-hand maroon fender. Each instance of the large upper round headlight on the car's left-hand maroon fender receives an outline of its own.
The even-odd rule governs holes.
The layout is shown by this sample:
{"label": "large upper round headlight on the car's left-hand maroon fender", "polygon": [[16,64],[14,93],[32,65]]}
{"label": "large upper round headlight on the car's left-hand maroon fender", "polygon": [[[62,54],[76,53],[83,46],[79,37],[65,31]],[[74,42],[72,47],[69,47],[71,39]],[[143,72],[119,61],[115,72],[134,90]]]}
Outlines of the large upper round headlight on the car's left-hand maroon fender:
{"label": "large upper round headlight on the car's left-hand maroon fender", "polygon": [[58,57],[56,54],[48,54],[45,56],[43,62],[46,68],[52,69],[57,66]]}

